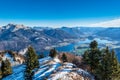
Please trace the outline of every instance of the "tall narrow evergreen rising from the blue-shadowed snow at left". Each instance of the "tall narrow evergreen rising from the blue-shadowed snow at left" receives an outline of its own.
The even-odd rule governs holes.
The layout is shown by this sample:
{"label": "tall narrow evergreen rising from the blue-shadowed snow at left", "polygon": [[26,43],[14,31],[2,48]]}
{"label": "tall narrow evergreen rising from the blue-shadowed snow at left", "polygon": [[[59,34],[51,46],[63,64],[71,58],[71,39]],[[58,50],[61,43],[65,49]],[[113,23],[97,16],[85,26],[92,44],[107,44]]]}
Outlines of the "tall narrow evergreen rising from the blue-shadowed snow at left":
{"label": "tall narrow evergreen rising from the blue-shadowed snow at left", "polygon": [[39,67],[38,56],[30,46],[26,54],[25,80],[32,80],[33,70]]}

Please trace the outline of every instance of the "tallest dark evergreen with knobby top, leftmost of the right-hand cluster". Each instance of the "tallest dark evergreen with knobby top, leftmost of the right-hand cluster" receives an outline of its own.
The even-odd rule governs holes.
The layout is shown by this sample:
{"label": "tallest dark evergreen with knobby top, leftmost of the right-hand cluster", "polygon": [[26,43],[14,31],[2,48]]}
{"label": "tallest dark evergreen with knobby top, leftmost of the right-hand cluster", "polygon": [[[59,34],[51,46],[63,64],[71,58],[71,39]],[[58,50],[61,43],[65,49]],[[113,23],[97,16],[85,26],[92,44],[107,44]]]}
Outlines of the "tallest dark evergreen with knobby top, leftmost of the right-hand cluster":
{"label": "tallest dark evergreen with knobby top, leftmost of the right-hand cluster", "polygon": [[98,49],[98,43],[94,40],[90,43],[90,49],[83,55],[83,60],[91,67],[93,73],[99,65],[101,59],[101,51]]}

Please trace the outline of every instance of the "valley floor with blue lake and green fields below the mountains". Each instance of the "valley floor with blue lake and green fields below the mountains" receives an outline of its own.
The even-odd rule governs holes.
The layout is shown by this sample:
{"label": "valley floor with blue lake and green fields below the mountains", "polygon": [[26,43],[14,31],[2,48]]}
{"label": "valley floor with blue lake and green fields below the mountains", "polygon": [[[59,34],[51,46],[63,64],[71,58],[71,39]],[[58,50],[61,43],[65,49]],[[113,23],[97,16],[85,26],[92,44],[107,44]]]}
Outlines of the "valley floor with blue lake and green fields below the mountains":
{"label": "valley floor with blue lake and green fields below the mountains", "polygon": [[84,51],[87,50],[89,48],[89,44],[91,41],[96,40],[97,42],[99,42],[99,48],[100,49],[104,49],[107,46],[109,46],[109,48],[112,50],[114,49],[116,52],[116,55],[118,57],[118,60],[120,61],[120,43],[119,41],[114,41],[114,40],[110,40],[110,39],[100,39],[100,38],[94,38],[94,39],[85,39],[85,40],[76,40],[74,42],[69,42],[69,43],[63,43],[64,45],[56,45],[56,46],[49,46],[48,49],[46,49],[43,53],[48,55],[49,54],[49,50],[52,48],[55,48],[58,52],[70,52],[76,55],[83,55]]}

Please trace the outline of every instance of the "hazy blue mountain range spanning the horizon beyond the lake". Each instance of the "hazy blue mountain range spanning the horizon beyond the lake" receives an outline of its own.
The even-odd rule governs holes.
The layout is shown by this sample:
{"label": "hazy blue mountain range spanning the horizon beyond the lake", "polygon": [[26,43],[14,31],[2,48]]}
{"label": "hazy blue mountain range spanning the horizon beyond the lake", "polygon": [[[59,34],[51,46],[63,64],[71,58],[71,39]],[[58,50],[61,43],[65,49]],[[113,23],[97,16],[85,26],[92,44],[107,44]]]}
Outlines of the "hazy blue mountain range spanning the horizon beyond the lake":
{"label": "hazy blue mountain range spanning the horizon beyond the lake", "polygon": [[70,39],[76,40],[90,36],[108,37],[120,40],[120,28],[102,27],[28,27],[8,24],[0,27],[0,50],[20,51],[32,45],[37,52],[46,46],[57,45]]}

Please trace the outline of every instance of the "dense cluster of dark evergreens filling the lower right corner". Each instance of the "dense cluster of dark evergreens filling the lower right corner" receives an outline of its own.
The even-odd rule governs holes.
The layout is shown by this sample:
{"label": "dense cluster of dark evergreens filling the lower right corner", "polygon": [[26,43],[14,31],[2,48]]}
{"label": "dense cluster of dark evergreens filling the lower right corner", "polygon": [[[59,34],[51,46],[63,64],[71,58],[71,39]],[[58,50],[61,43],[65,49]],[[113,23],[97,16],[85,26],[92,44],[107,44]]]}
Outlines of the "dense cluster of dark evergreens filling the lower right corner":
{"label": "dense cluster of dark evergreens filling the lower right corner", "polygon": [[114,50],[108,47],[100,50],[95,40],[83,54],[83,63],[90,67],[89,71],[95,76],[95,80],[120,79],[120,63]]}

